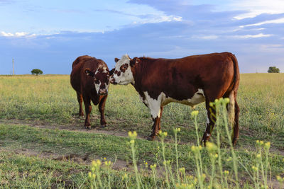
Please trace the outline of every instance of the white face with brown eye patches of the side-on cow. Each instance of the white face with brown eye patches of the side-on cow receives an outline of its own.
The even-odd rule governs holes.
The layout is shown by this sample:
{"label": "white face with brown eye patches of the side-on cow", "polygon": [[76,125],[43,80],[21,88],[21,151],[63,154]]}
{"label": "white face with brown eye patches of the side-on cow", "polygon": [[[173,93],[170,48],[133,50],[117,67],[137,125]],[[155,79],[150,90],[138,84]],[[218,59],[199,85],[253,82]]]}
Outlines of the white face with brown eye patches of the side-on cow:
{"label": "white face with brown eye patches of the side-on cow", "polygon": [[121,59],[116,59],[114,74],[111,76],[110,80],[111,84],[134,84],[130,61],[131,58],[129,58],[129,55],[124,55],[121,57]]}

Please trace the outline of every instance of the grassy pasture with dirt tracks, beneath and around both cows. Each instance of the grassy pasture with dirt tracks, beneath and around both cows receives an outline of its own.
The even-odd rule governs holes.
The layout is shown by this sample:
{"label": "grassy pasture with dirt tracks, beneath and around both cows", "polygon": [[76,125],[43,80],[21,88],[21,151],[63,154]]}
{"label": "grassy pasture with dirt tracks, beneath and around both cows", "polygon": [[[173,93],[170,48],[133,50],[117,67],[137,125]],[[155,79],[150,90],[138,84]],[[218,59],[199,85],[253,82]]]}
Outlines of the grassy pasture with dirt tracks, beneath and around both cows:
{"label": "grassy pasture with dirt tracks, beneath and around both cows", "polygon": [[[283,84],[284,74],[241,74],[238,93],[240,135],[235,152],[239,162],[239,183],[243,188],[254,188],[249,174],[251,166],[256,164],[256,140],[271,142],[269,183],[274,188],[281,187],[276,176],[284,177]],[[125,179],[122,178],[125,173],[133,173],[127,136],[129,131],[136,131],[137,164],[144,171],[142,180],[151,188],[153,181],[147,177],[150,168],[145,167],[145,162],[163,167],[161,144],[146,140],[151,133],[151,115],[133,86],[110,86],[105,109],[108,127],[98,127],[99,111],[93,105],[93,129],[84,130],[84,119],[78,118],[78,110],[76,93],[70,86],[69,76],[0,76],[0,186],[89,188],[91,161],[104,161],[105,158],[115,161],[110,170],[111,185],[126,188]],[[206,122],[204,104],[197,105],[195,110],[199,111],[198,134],[202,136]],[[164,108],[161,127],[168,132],[165,157],[173,160],[173,163],[173,128],[181,129],[178,133],[179,164],[194,176],[196,161],[190,151],[192,145],[196,145],[197,137],[191,112],[186,105],[170,103]],[[212,133],[211,142],[217,142],[216,130]],[[221,142],[222,166],[230,171],[229,178],[233,180],[231,161],[226,161],[231,154],[225,130],[221,131]],[[211,162],[207,155],[206,151],[202,151],[204,172],[209,175]],[[104,178],[107,178],[107,171],[102,171]],[[162,168],[160,172],[157,183],[160,187],[166,187]],[[136,186],[134,178],[133,175],[129,179],[130,188]],[[231,181],[233,186],[236,185]]]}

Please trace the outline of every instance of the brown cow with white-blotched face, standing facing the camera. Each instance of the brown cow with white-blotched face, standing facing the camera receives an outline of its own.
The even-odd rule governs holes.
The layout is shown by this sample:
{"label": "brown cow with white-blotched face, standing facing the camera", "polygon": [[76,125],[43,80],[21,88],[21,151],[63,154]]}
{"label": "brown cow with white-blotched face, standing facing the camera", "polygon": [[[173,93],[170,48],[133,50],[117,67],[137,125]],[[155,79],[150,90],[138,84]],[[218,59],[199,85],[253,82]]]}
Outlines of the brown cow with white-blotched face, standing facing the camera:
{"label": "brown cow with white-blotched face, standing facing the camera", "polygon": [[101,126],[106,127],[107,122],[104,118],[104,105],[107,101],[109,90],[109,72],[107,64],[102,59],[89,57],[87,55],[77,57],[72,64],[70,81],[72,87],[77,92],[79,102],[79,116],[84,116],[82,110],[82,101],[86,111],[84,127],[91,129],[89,114],[92,111],[91,101],[94,105],[99,104],[99,113],[101,113]]}

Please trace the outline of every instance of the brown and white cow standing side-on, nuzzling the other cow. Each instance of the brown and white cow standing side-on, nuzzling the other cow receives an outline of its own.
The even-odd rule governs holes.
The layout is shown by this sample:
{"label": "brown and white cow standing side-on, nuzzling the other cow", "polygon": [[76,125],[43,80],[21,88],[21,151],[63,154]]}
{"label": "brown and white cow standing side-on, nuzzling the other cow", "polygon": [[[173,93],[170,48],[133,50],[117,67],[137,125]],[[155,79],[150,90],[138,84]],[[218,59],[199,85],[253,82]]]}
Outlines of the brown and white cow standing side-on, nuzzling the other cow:
{"label": "brown and white cow standing side-on, nuzzling the other cow", "polygon": [[160,130],[163,106],[170,102],[194,106],[205,101],[207,127],[202,141],[209,139],[215,118],[210,116],[209,102],[229,98],[229,113],[234,117],[233,143],[239,137],[239,106],[236,93],[239,87],[239,66],[230,52],[194,55],[180,59],[153,59],[124,55],[115,59],[111,84],[132,84],[141,100],[151,110],[153,119],[150,139]]}

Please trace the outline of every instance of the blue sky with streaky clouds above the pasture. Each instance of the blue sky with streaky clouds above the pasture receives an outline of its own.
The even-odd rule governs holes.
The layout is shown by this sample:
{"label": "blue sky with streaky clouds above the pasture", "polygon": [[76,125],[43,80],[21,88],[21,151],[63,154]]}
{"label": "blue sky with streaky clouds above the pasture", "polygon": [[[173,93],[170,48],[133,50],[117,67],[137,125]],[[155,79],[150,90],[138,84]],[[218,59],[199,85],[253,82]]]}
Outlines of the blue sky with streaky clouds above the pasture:
{"label": "blue sky with streaky clouds above the pasture", "polygon": [[284,72],[283,0],[0,0],[0,74],[70,74],[81,55],[232,52],[241,73]]}

